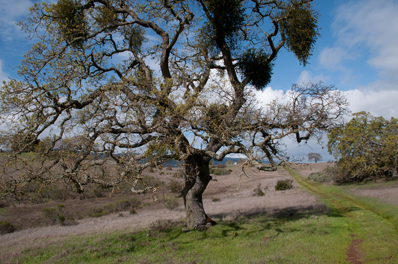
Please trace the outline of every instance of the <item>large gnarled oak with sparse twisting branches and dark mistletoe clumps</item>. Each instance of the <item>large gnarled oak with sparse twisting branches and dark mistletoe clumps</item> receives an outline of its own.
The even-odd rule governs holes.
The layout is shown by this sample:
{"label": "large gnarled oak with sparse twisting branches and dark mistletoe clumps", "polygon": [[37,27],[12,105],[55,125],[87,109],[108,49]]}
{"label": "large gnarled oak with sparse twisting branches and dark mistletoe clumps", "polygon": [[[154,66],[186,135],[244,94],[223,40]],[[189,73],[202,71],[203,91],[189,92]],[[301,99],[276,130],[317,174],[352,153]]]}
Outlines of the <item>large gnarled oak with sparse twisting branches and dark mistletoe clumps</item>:
{"label": "large gnarled oak with sparse twisting branches and dark mistletoe clumps", "polygon": [[[51,173],[79,192],[127,178],[138,191],[143,169],[180,160],[187,226],[201,228],[210,221],[202,193],[211,159],[244,154],[244,166],[275,170],[281,139],[320,136],[344,113],[342,94],[321,83],[294,85],[285,103],[262,106],[254,97],[281,49],[307,63],[318,37],[311,2],[36,3],[21,26],[38,42],[21,62],[21,80],[2,86],[0,107],[13,134],[33,135],[27,145],[49,137],[28,178],[5,180],[22,193]],[[54,154],[75,134],[73,152]],[[263,158],[270,164],[257,163]]]}

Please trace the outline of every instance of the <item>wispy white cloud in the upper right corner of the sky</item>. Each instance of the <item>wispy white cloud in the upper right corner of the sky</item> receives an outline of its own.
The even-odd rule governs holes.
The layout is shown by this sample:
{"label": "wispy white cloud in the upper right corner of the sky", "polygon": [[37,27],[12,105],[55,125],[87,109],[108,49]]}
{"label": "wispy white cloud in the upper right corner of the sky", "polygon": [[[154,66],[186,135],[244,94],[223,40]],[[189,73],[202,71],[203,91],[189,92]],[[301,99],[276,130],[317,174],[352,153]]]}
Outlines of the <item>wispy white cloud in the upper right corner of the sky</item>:
{"label": "wispy white cloud in the upper right corner of the sky", "polygon": [[[396,78],[398,72],[397,14],[398,2],[393,0],[350,1],[341,5],[333,23],[333,29],[338,38],[336,47],[333,49],[335,51],[344,49],[347,54],[361,53],[366,49],[370,51],[367,62],[371,67],[378,69],[383,77]],[[327,53],[324,55],[326,56]],[[338,58],[336,56],[336,60]]]}

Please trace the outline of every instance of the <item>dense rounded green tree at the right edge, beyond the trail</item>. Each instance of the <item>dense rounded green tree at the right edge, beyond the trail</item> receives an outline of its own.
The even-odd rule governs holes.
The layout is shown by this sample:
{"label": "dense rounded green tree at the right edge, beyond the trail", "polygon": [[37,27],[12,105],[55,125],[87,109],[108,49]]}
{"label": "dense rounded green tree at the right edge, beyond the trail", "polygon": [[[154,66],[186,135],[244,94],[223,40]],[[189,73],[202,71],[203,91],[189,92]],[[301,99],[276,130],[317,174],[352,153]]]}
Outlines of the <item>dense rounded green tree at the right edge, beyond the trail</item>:
{"label": "dense rounded green tree at the right edge, beyond the trail", "polygon": [[329,152],[338,158],[338,181],[397,177],[398,119],[358,112],[328,138]]}

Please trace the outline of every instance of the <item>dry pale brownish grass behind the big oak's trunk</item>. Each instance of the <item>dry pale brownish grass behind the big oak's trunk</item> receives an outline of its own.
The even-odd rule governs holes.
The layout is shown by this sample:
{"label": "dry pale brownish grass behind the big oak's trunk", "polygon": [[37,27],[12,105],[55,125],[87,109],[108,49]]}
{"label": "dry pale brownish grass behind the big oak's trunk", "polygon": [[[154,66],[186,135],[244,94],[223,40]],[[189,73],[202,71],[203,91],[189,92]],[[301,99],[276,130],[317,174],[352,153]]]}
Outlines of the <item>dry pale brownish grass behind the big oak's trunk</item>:
{"label": "dry pale brownish grass behind the big oak's trunk", "polygon": [[[311,165],[295,165],[294,169],[303,176],[309,176],[314,171],[321,171],[327,163],[317,163]],[[283,168],[273,172],[246,171],[250,178],[242,178],[239,181],[239,165],[229,166],[233,169],[233,173],[229,176],[216,176],[217,180],[210,182],[207,190],[204,192],[203,201],[207,214],[215,221],[237,219],[248,215],[257,215],[267,213],[268,215],[277,215],[280,217],[288,217],[301,212],[307,211],[327,211],[327,207],[318,197],[303,191],[299,184],[293,182],[294,188],[286,191],[275,191],[274,186],[278,180],[293,178],[288,171]],[[171,177],[172,171],[164,170],[161,174],[155,171],[151,176],[156,176],[159,180],[167,182]],[[170,173],[170,175],[168,173]],[[166,174],[167,173],[167,174]],[[258,184],[266,189],[264,196],[253,196],[253,189]],[[267,188],[268,187],[268,188]],[[389,187],[388,187],[389,188]],[[397,201],[397,185],[395,188],[395,201]],[[368,190],[365,190],[368,191]],[[383,192],[385,193],[385,189]],[[158,202],[153,202],[152,194],[147,195],[129,195],[144,204],[136,208],[137,213],[130,215],[128,211],[112,213],[98,218],[75,219],[75,226],[46,226],[29,228],[28,224],[23,224],[27,219],[32,221],[40,221],[40,208],[56,206],[54,204],[30,205],[23,204],[12,206],[9,208],[1,208],[0,221],[10,221],[17,227],[24,228],[18,232],[0,236],[0,263],[2,259],[10,259],[10,256],[18,256],[23,254],[25,250],[32,248],[44,247],[45,244],[60,241],[68,236],[98,234],[100,232],[115,232],[117,230],[142,230],[156,225],[159,221],[183,221],[185,212],[183,208],[183,200],[179,198],[178,204],[173,208],[167,208],[169,197],[174,197],[167,190],[161,190],[157,193]],[[69,212],[86,211],[95,206],[102,206],[118,199],[126,198],[126,195],[114,195],[108,199],[87,199],[65,201],[65,208]],[[218,202],[212,202],[217,200]],[[59,204],[59,203],[58,203]],[[29,212],[31,214],[29,214]],[[10,219],[12,218],[12,219]],[[45,240],[43,240],[45,239]]]}

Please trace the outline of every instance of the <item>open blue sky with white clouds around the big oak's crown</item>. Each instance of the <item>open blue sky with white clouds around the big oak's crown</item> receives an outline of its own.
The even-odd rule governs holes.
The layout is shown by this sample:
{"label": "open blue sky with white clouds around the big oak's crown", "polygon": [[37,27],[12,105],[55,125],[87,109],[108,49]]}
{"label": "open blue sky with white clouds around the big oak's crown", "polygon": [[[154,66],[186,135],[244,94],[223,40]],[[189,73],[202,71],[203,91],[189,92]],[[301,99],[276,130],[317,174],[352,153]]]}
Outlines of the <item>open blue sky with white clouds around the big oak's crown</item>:
{"label": "open blue sky with white clouds around the big oak's crown", "polygon": [[[14,67],[32,45],[15,23],[26,19],[33,3],[0,0],[0,81],[18,77]],[[309,64],[303,67],[288,51],[279,53],[272,82],[258,97],[271,101],[292,84],[323,81],[345,93],[351,112],[398,117],[398,1],[318,0],[314,7],[321,36]],[[292,156],[317,152],[333,160],[325,144],[286,145]]]}

